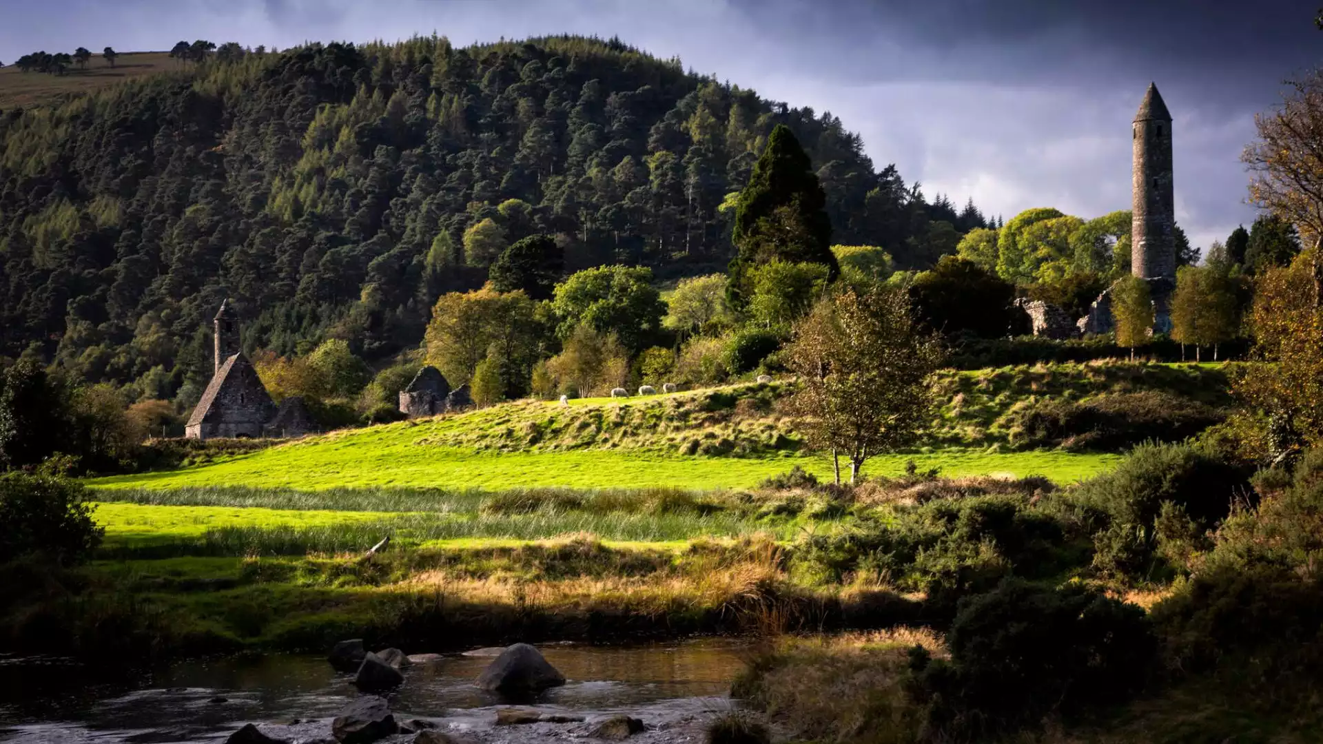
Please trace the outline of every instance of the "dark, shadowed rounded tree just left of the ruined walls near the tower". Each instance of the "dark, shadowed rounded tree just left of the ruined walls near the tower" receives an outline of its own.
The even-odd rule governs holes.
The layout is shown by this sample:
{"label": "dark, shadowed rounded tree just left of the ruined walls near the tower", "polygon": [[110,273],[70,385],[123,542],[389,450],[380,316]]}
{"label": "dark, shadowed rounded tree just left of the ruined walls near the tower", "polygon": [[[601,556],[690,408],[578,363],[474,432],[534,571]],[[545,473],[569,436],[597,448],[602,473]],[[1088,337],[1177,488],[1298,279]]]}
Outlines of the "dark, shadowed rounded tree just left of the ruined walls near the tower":
{"label": "dark, shadowed rounded tree just left of the ruined walls near the tower", "polygon": [[1016,314],[1015,287],[978,263],[943,256],[916,277],[910,298],[918,318],[934,331],[983,338],[1005,336]]}

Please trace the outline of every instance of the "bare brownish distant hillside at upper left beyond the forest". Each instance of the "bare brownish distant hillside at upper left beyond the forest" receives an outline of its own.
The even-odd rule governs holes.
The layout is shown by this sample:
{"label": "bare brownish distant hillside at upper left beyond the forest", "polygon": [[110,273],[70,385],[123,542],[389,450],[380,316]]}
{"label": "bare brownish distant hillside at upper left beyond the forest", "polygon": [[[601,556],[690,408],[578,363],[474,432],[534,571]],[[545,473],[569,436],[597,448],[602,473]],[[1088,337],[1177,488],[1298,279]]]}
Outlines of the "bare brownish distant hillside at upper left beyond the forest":
{"label": "bare brownish distant hillside at upper left beyond the forest", "polygon": [[0,68],[0,110],[57,103],[70,95],[91,93],[127,79],[181,69],[180,62],[171,60],[165,52],[120,54],[115,58],[115,66],[95,54],[86,70],[70,68],[62,75],[24,73],[13,66],[13,60],[5,62],[9,66]]}

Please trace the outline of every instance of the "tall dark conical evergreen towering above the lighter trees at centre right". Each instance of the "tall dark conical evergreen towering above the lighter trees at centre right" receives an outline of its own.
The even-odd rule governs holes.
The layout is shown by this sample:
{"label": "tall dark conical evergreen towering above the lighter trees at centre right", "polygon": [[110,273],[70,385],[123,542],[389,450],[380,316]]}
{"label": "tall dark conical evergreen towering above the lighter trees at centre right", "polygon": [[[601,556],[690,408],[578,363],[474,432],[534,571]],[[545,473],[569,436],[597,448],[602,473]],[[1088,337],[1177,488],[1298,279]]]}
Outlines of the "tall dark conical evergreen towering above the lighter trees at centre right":
{"label": "tall dark conical evergreen towering above the lighter trees at centre right", "polygon": [[738,253],[726,289],[733,307],[742,310],[753,294],[750,269],[770,261],[822,263],[828,281],[836,278],[826,205],[808,155],[790,127],[778,124],[736,207],[732,242]]}

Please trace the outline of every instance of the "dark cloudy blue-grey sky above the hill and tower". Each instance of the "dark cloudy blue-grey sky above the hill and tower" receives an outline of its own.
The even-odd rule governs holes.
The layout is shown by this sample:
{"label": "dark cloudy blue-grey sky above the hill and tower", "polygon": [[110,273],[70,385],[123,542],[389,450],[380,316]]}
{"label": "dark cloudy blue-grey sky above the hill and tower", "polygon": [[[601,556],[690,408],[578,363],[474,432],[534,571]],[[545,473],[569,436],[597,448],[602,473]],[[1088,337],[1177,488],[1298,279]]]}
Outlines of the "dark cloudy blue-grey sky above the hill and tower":
{"label": "dark cloudy blue-grey sky above the hill and tower", "polygon": [[1130,207],[1148,81],[1175,118],[1176,218],[1207,246],[1253,220],[1238,158],[1281,82],[1323,62],[1323,0],[0,0],[0,60],[180,38],[456,44],[613,36],[765,98],[831,111],[881,168],[1009,218]]}

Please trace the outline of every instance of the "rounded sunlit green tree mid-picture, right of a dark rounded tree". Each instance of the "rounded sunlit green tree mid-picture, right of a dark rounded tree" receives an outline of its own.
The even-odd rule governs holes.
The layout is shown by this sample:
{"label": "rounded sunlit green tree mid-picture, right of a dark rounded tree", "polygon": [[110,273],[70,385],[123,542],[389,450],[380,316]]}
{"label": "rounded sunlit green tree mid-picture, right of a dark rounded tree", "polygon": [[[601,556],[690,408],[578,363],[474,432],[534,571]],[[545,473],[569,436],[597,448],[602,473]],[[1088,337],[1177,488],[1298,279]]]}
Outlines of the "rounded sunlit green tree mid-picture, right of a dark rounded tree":
{"label": "rounded sunlit green tree mid-picture, right of a dark rounded tree", "polygon": [[579,326],[615,335],[638,351],[656,336],[665,304],[651,285],[652,270],[643,266],[599,266],[572,274],[556,285],[552,308],[560,318],[557,334],[566,339]]}

